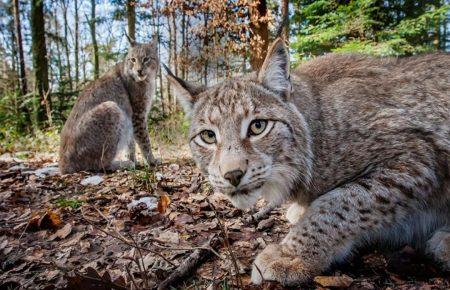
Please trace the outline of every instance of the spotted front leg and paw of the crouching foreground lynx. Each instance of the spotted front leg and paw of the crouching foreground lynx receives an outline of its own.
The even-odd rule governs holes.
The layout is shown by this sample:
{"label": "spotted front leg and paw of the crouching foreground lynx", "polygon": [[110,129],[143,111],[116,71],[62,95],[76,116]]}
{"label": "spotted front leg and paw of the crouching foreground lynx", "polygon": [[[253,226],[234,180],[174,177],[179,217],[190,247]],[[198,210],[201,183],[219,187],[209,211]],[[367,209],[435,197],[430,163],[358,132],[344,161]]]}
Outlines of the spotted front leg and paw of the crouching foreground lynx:
{"label": "spotted front leg and paw of the crouching foreground lynx", "polygon": [[306,282],[345,258],[358,242],[401,223],[426,202],[435,180],[423,164],[400,162],[321,196],[281,245],[258,255],[252,281]]}

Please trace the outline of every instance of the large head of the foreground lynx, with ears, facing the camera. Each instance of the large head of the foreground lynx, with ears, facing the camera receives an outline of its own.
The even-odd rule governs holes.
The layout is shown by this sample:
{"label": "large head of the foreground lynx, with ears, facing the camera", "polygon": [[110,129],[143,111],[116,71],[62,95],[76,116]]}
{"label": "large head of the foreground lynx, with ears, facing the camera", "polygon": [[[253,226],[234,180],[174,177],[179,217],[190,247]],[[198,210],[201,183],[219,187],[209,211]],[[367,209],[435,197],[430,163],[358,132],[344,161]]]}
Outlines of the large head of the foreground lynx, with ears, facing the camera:
{"label": "large head of the foreground lynx, with ears, facing the camera", "polygon": [[311,144],[290,98],[289,54],[277,39],[257,73],[212,87],[168,79],[191,115],[190,147],[215,190],[238,208],[280,203],[307,186]]}

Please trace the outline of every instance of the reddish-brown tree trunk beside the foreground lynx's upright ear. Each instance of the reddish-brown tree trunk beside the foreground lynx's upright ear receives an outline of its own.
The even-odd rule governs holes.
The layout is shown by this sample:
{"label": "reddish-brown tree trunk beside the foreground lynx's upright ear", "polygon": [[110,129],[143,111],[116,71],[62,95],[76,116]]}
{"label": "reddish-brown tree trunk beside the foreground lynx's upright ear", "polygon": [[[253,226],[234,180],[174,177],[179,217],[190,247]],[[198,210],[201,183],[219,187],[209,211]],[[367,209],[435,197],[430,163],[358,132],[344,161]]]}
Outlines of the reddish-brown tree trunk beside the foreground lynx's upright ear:
{"label": "reddish-brown tree trunk beside the foreground lynx's upright ear", "polygon": [[250,54],[250,64],[253,70],[258,70],[266,56],[269,46],[269,25],[262,17],[267,16],[266,0],[257,0],[258,4],[255,8],[250,9],[250,18],[256,18],[256,21],[250,21],[250,35],[253,38],[259,38],[256,47],[252,48],[255,53]]}

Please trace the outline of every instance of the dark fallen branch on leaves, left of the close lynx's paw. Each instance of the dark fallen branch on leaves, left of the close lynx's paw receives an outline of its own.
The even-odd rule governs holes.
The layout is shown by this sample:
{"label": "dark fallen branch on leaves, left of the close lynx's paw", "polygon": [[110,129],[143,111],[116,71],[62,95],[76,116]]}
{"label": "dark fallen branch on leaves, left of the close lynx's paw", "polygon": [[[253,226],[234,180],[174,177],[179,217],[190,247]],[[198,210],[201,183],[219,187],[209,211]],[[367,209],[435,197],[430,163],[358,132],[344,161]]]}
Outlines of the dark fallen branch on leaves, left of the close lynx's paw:
{"label": "dark fallen branch on leaves, left of the close lynx's paw", "polygon": [[213,254],[213,250],[217,249],[220,244],[219,235],[214,234],[208,242],[202,245],[201,248],[197,248],[183,262],[181,262],[180,266],[178,266],[178,268],[175,269],[169,277],[159,284],[158,290],[169,289],[170,286],[174,286],[181,282],[181,280],[196,269],[198,265],[206,261]]}

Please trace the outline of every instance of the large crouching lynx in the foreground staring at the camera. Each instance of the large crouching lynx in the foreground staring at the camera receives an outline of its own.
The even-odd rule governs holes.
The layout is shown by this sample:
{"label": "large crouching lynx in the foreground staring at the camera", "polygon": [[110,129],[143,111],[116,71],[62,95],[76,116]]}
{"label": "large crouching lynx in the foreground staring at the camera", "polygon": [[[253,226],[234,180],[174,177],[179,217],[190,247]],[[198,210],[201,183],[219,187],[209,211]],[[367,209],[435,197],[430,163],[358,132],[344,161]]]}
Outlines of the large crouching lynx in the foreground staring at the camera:
{"label": "large crouching lynx in the foreground staring at the camera", "polygon": [[329,54],[289,75],[278,39],[247,77],[168,78],[218,191],[242,209],[295,201],[295,225],[257,256],[254,283],[297,285],[367,242],[412,243],[450,269],[449,54]]}

